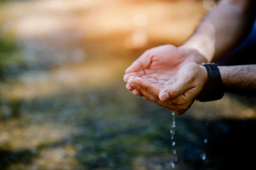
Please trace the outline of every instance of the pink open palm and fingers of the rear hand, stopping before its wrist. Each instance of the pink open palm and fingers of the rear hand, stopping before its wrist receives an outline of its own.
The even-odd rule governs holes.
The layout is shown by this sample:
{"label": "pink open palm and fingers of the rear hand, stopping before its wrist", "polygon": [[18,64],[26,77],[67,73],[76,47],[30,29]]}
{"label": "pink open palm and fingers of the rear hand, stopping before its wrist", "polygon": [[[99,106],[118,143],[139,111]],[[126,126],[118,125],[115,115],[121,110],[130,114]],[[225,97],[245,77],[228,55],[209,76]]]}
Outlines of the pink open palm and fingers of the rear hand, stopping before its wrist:
{"label": "pink open palm and fingers of the rear hand, stopping before its wrist", "polygon": [[186,52],[173,45],[162,45],[148,50],[134,61],[127,68],[124,80],[128,82],[129,79],[141,77],[145,81],[152,83],[152,87],[160,90],[177,73],[180,66],[187,63],[187,60]]}

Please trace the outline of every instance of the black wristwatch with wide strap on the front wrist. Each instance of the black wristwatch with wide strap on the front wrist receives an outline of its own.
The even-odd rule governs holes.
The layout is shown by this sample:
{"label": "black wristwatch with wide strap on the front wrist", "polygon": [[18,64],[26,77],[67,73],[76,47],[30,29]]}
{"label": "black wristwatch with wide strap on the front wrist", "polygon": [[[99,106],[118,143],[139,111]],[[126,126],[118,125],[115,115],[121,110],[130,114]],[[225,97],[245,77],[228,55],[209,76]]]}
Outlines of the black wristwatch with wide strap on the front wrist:
{"label": "black wristwatch with wide strap on the front wrist", "polygon": [[224,95],[220,70],[215,63],[202,63],[208,73],[208,81],[202,91],[196,97],[200,102],[209,102],[221,99]]}

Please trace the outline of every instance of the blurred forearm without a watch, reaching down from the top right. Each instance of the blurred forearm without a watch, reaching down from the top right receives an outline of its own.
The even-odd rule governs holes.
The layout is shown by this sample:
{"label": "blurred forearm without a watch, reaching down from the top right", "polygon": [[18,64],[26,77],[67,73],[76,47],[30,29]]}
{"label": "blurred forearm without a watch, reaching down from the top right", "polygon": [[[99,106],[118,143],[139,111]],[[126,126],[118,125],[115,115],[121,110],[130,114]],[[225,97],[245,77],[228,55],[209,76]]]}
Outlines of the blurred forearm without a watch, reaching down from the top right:
{"label": "blurred forearm without a watch, reaching down from the top right", "polygon": [[196,49],[208,61],[225,56],[244,38],[252,24],[250,0],[222,0],[200,22],[181,47]]}

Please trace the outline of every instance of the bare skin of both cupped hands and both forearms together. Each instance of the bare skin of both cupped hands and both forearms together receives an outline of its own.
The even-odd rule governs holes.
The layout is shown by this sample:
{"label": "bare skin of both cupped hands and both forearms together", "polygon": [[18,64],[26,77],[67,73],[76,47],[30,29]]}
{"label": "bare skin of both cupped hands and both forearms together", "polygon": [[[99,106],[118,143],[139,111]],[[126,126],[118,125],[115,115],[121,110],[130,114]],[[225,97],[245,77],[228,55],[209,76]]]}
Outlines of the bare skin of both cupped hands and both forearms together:
{"label": "bare skin of both cupped hands and both forearms together", "polygon": [[[186,112],[207,82],[207,72],[198,64],[220,59],[243,40],[251,26],[252,2],[222,0],[183,45],[147,50],[125,70],[126,88],[177,114]],[[220,67],[225,88],[255,90],[255,65],[249,67]],[[241,77],[246,77],[246,85]]]}

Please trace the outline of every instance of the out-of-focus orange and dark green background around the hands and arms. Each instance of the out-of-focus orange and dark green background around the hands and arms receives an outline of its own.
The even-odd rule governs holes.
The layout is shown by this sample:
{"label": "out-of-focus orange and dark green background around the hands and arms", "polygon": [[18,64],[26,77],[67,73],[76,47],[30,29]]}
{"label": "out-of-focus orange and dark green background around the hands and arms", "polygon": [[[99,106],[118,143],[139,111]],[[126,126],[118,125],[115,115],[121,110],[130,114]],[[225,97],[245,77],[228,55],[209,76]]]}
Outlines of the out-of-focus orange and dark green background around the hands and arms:
{"label": "out-of-focus orange and dark green background around the hands and arms", "polygon": [[172,111],[123,81],[145,50],[184,42],[215,3],[0,0],[0,169],[253,164],[255,98],[195,102],[175,117],[172,146]]}

